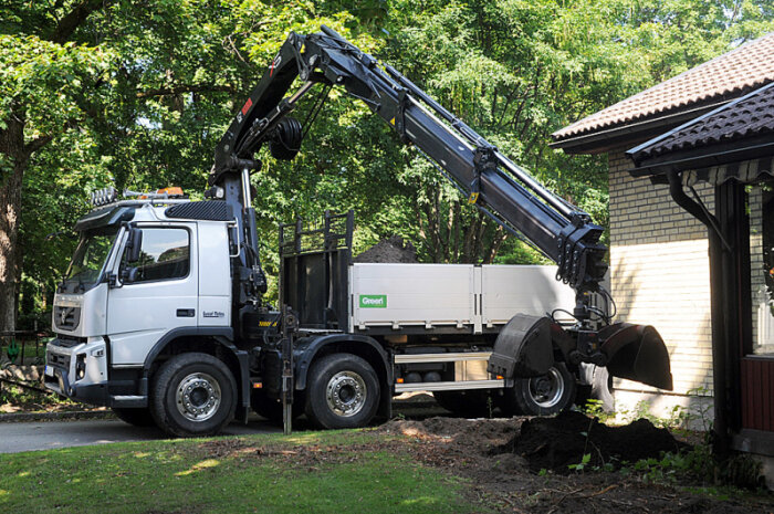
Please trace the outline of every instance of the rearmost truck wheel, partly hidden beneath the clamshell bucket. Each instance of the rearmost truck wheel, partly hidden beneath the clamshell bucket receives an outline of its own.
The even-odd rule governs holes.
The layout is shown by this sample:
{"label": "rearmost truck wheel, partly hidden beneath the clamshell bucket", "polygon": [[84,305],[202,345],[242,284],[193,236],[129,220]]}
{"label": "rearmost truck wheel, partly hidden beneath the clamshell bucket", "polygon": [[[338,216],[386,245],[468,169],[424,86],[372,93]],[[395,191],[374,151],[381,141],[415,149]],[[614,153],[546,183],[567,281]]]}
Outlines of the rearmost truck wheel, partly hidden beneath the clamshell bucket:
{"label": "rearmost truck wheel, partly hidden beneath the clamshell bucket", "polygon": [[575,377],[564,363],[554,363],[545,375],[516,378],[513,388],[504,391],[505,410],[524,416],[556,415],[573,405],[575,387]]}

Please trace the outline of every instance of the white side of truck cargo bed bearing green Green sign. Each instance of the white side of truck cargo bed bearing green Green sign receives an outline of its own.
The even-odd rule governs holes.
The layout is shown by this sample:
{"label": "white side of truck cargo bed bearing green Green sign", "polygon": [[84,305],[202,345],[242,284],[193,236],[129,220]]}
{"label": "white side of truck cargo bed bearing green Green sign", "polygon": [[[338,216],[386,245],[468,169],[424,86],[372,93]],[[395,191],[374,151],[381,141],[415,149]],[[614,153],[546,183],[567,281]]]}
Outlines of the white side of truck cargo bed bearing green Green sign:
{"label": "white side of truck cargo bed bearing green Green sign", "polygon": [[504,325],[515,314],[575,305],[556,266],[356,263],[349,270],[351,331]]}

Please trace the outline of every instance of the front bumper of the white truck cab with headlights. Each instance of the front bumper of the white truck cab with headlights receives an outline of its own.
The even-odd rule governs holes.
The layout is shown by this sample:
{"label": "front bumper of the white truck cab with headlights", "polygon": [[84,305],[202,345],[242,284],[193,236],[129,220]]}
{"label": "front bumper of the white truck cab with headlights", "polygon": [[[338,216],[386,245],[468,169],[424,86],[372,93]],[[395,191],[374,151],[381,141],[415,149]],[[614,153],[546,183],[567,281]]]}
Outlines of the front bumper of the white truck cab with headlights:
{"label": "front bumper of the white truck cab with headlights", "polygon": [[113,407],[107,352],[102,337],[85,343],[54,339],[45,349],[45,387],[75,401]]}

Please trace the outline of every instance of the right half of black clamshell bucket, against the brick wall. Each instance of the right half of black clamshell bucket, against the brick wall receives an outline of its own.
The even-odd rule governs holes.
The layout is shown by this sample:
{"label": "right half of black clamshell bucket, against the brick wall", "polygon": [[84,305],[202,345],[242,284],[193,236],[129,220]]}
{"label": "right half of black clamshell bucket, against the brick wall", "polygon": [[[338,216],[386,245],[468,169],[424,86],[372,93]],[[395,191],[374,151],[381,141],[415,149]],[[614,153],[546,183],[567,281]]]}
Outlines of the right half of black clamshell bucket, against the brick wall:
{"label": "right half of black clamshell bucket, against the brick wall", "polygon": [[599,340],[610,375],[672,390],[669,352],[656,328],[615,323],[599,331]]}

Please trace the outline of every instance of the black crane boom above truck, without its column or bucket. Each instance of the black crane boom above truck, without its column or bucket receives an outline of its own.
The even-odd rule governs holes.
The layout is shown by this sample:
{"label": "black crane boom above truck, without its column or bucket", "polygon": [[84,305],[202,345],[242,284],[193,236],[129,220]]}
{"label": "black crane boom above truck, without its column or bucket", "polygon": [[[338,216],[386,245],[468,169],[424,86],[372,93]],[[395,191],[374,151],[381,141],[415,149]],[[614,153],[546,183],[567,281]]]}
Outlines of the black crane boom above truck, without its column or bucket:
{"label": "black crane boom above truck, without its column or bucket", "polygon": [[[607,249],[599,243],[603,229],[588,214],[545,189],[395,69],[381,69],[331,29],[323,31],[289,35],[218,145],[210,185],[257,167],[253,155],[266,143],[297,149],[301,127],[287,114],[314,84],[342,86],[394,127],[404,143],[435,160],[471,203],[556,262],[557,279],[578,292],[598,291]],[[303,84],[286,97],[296,77]]]}

